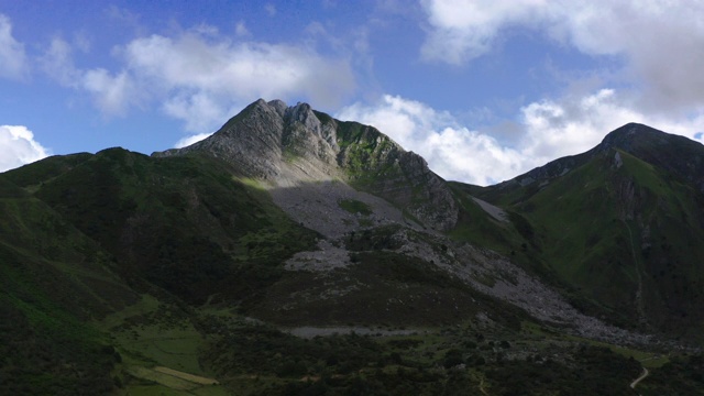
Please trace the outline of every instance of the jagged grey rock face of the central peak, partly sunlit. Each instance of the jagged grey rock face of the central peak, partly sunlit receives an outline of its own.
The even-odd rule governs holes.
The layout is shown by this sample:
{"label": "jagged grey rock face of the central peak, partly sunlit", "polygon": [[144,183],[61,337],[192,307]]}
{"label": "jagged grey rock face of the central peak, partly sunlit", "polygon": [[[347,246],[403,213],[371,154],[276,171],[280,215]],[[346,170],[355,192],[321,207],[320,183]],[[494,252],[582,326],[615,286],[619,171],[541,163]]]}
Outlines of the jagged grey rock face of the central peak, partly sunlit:
{"label": "jagged grey rock face of the central peak, partly sunlit", "polygon": [[426,161],[376,129],[342,122],[307,103],[262,99],[208,139],[153,156],[206,153],[274,188],[339,180],[388,200],[425,227],[449,230],[458,207]]}

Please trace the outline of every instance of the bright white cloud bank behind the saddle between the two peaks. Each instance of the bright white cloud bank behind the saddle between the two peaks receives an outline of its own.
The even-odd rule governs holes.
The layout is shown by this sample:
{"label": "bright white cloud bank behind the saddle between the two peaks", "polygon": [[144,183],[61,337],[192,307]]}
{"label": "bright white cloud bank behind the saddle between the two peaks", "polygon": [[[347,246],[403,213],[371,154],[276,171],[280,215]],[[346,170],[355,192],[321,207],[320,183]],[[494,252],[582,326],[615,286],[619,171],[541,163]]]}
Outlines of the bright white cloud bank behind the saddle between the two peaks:
{"label": "bright white cloud bank behind the saddle between the two peaks", "polygon": [[558,157],[585,152],[628,122],[702,141],[697,132],[704,117],[672,122],[623,103],[613,89],[532,102],[520,109],[518,121],[510,125],[520,131],[513,144],[471,130],[448,112],[397,96],[384,96],[374,105],[355,103],[337,117],[376,127],[406,150],[420,154],[447,179],[477,185],[510,179]]}

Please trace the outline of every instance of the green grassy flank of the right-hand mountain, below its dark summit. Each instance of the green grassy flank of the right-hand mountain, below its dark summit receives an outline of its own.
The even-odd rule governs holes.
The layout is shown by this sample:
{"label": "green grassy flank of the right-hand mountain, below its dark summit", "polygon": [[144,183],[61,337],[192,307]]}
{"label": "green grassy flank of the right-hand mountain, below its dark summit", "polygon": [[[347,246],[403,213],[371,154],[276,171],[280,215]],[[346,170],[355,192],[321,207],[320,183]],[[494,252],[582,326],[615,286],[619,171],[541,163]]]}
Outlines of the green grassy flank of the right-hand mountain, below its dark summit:
{"label": "green grassy flank of the right-hand mountain, below its dark summit", "polygon": [[[615,153],[598,154],[543,186],[504,186],[502,202],[526,220],[521,228],[512,218],[527,254],[547,263],[578,305],[622,326],[638,322],[645,311],[657,329],[694,329],[678,334],[694,336],[702,319],[696,306],[704,273],[696,263],[704,248],[694,243],[704,238],[702,197],[623,151],[616,168]],[[470,190],[484,198],[497,194]]]}

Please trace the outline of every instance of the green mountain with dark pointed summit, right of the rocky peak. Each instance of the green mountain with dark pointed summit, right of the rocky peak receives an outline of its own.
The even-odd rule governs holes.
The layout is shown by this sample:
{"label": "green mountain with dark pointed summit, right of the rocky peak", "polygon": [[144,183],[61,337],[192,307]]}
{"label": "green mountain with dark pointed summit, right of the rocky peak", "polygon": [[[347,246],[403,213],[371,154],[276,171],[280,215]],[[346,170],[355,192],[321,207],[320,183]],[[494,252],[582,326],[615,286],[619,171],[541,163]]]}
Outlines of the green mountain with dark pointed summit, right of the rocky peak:
{"label": "green mountain with dark pointed summit, right of the rocky peak", "polygon": [[704,147],[627,124],[477,197],[527,219],[531,248],[564,283],[642,329],[695,336],[702,322]]}

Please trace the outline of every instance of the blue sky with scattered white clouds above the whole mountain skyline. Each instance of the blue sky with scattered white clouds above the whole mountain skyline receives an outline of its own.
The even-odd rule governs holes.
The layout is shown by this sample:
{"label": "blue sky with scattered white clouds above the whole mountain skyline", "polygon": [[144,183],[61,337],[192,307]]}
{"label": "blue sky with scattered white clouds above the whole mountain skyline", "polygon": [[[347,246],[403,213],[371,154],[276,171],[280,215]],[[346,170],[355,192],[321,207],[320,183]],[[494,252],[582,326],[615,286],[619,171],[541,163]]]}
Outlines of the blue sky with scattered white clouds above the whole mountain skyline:
{"label": "blue sky with scattered white clouds above the whole mountain skyline", "polygon": [[480,185],[631,121],[701,142],[702,21],[690,0],[0,0],[0,170],[182,146],[258,98]]}

